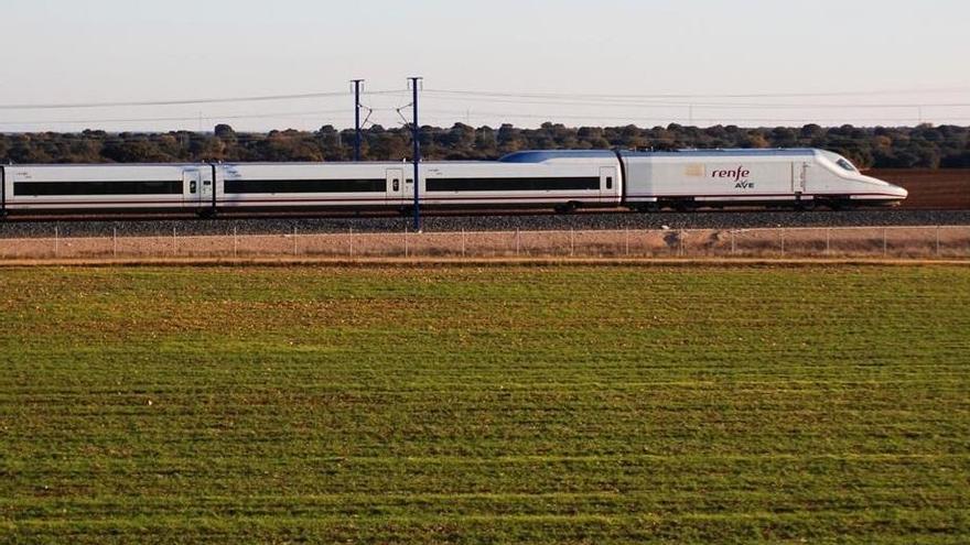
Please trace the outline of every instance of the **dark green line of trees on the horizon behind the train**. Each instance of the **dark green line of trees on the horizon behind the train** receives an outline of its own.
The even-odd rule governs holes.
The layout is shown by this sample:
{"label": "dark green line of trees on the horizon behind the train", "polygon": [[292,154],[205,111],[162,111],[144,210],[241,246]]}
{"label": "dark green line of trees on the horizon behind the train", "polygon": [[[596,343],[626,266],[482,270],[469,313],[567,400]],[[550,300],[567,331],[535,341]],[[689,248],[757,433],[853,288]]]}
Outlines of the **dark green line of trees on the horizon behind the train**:
{"label": "dark green line of trees on the horizon behind the train", "polygon": [[[407,127],[371,126],[363,131],[362,159],[403,161],[411,154]],[[677,150],[716,148],[821,148],[841,153],[863,168],[970,167],[970,127],[920,124],[898,128],[709,128],[669,124],[571,128],[543,123],[422,127],[422,155],[429,160],[491,160],[520,150]],[[236,132],[219,124],[211,133],[85,130],[78,133],[0,134],[0,161],[7,163],[172,163],[348,161],[354,130],[332,126],[317,131]]]}

